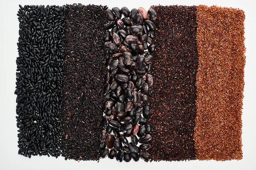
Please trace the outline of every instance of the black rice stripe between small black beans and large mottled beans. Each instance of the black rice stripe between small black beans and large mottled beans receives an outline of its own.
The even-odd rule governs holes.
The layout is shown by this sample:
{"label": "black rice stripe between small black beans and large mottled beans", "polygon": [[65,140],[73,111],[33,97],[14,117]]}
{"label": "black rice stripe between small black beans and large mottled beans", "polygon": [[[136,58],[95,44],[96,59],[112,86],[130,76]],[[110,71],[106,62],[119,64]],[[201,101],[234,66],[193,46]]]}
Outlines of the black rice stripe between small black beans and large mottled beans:
{"label": "black rice stripe between small black beans and large mottled beans", "polygon": [[67,5],[62,156],[98,160],[104,102],[105,6]]}

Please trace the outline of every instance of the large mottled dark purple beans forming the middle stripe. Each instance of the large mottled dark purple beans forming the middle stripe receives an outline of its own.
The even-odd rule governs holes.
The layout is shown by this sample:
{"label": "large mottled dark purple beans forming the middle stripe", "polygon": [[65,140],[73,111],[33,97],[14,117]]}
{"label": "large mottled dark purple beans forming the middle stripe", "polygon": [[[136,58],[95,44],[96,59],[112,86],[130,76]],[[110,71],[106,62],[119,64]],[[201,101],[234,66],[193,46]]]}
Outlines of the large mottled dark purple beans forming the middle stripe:
{"label": "large mottled dark purple beans forming the middle stripe", "polygon": [[[107,9],[105,49],[108,72],[105,78],[104,113],[99,146],[100,158],[150,161],[150,117],[152,44],[156,13],[144,8]],[[124,16],[124,17],[122,17]],[[148,51],[145,51],[147,50]],[[128,137],[131,137],[129,139]],[[128,141],[131,140],[129,143]],[[111,150],[109,150],[111,149]]]}

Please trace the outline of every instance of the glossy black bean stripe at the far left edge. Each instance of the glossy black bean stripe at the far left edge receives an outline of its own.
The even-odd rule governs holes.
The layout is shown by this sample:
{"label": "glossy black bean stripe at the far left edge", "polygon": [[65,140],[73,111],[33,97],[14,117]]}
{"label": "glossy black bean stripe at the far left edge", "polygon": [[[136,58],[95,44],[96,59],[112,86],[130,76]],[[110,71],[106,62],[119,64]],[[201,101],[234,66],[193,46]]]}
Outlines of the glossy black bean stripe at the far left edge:
{"label": "glossy black bean stripe at the far left edge", "polygon": [[18,153],[60,156],[64,6],[20,6]]}

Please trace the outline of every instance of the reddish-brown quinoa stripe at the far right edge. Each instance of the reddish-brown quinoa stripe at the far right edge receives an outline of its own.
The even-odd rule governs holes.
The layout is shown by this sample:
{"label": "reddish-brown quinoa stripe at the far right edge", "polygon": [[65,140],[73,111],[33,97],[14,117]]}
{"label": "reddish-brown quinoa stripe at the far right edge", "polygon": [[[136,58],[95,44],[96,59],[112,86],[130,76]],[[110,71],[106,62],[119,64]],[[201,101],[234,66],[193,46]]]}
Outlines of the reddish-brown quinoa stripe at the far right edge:
{"label": "reddish-brown quinoa stripe at the far right edge", "polygon": [[196,159],[242,159],[244,12],[197,7]]}

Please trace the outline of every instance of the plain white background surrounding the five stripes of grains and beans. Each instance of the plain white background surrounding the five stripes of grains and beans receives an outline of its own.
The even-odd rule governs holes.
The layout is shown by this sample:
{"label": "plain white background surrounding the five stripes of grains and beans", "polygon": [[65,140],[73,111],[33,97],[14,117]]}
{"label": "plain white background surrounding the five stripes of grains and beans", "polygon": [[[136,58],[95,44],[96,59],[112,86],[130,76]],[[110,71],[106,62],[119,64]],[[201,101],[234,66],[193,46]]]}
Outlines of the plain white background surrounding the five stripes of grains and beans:
{"label": "plain white background surrounding the five stripes of grains and beans", "polygon": [[[144,161],[129,163],[117,162],[108,158],[97,161],[65,161],[63,157],[55,159],[47,156],[32,156],[28,159],[18,155],[17,127],[16,127],[16,57],[19,22],[17,20],[18,4],[29,5],[64,5],[64,4],[89,3],[107,5],[109,8],[123,6],[132,8],[144,7],[146,10],[151,5],[217,5],[222,7],[240,8],[245,12],[245,87],[243,100],[243,127],[242,150],[243,159],[240,161],[160,161],[146,163]],[[150,170],[150,169],[196,169],[196,170],[241,170],[256,169],[256,9],[253,0],[0,0],[0,170]]]}

